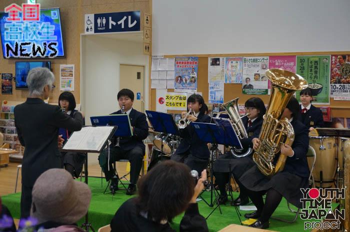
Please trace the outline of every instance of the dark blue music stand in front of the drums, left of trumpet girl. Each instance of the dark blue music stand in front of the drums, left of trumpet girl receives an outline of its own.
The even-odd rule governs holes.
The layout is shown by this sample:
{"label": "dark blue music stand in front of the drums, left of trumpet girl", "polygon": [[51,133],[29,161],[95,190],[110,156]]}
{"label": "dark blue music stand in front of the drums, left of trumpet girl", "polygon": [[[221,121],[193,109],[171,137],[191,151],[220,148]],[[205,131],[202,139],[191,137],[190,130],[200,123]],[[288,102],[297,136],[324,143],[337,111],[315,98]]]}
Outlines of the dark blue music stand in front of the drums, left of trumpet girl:
{"label": "dark blue music stand in front of the drums, left of trumpet girl", "polygon": [[[155,132],[179,135],[176,123],[171,114],[146,110],[147,118]],[[160,160],[163,157],[163,139],[161,139]]]}

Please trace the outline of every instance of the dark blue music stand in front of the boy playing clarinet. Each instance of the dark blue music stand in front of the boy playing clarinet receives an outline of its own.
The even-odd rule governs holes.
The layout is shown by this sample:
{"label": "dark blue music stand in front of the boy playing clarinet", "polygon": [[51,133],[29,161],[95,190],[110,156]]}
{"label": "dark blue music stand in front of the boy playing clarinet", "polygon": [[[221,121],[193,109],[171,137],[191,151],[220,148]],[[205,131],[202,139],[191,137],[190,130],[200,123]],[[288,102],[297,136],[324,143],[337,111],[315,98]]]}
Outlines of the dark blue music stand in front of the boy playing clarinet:
{"label": "dark blue music stand in front of the boy playing clarinet", "polygon": [[[117,130],[114,132],[113,136],[132,136],[132,130],[131,130],[131,124],[130,124],[130,119],[129,116],[127,114],[110,114],[110,115],[104,115],[104,116],[94,116],[94,117],[90,117],[91,120],[91,124],[92,126],[116,126]],[[110,139],[109,139],[110,140]],[[108,150],[109,150],[109,146],[108,146]],[[109,168],[109,161],[107,167]],[[116,171],[115,168],[115,163],[113,164],[113,168],[115,170],[115,173],[118,177],[118,181],[119,179],[119,175],[118,172]],[[103,194],[105,193],[105,191],[108,189],[109,185],[110,185],[111,179],[108,181],[108,184],[103,192]],[[123,188],[126,190],[126,187],[124,186],[124,184],[122,183],[122,181],[120,180],[120,184],[123,186]]]}

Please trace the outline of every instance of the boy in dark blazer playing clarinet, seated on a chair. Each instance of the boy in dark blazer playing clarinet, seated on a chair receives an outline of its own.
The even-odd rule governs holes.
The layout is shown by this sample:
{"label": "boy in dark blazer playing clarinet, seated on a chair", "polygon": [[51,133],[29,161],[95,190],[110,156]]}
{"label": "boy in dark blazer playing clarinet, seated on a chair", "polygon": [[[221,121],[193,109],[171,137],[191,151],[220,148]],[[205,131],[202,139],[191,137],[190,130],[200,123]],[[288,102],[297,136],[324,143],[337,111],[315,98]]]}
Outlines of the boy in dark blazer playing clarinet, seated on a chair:
{"label": "boy in dark blazer playing clarinet, seated on a chair", "polygon": [[[129,115],[133,135],[130,137],[119,137],[119,147],[116,146],[117,138],[113,136],[109,148],[109,169],[108,169],[108,148],[98,157],[99,165],[104,172],[106,181],[111,180],[110,190],[112,193],[118,189],[118,177],[112,164],[120,159],[127,159],[130,162],[130,184],[126,195],[133,195],[136,191],[136,182],[141,171],[142,159],[145,146],[142,142],[148,135],[148,123],[146,116],[132,108],[133,92],[130,89],[122,89],[118,92],[118,104],[120,109],[124,106],[124,113]],[[111,113],[120,114],[120,110]]]}

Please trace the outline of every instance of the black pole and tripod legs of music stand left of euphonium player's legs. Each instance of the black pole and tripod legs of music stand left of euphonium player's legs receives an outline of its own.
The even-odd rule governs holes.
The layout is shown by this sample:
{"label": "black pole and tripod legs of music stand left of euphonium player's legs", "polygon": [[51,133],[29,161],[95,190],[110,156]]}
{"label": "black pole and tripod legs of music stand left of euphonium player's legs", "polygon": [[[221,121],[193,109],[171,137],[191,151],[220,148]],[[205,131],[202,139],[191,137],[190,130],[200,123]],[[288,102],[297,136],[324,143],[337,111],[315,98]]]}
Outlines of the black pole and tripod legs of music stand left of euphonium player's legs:
{"label": "black pole and tripod legs of music stand left of euphonium player's legs", "polygon": [[[217,152],[217,144],[211,144],[211,157],[210,157],[210,162],[209,162],[209,173],[210,173],[210,183],[209,185],[202,190],[202,192],[198,195],[198,197],[200,197],[206,205],[208,205],[209,207],[213,207],[216,203],[216,207],[210,212],[210,214],[205,218],[205,219],[208,219],[210,217],[210,215],[212,213],[214,213],[214,211],[216,210],[216,208],[219,209],[220,211],[220,214],[222,214],[221,212],[221,208],[220,208],[220,205],[218,204],[218,192],[217,190],[214,188],[214,185],[213,185],[213,164],[214,164],[214,155],[216,156],[216,152]],[[205,201],[205,199],[201,196],[205,191],[206,189],[209,188],[210,189],[210,204],[208,202]],[[213,197],[212,197],[212,193],[214,193],[214,196],[215,196],[215,201],[213,201]],[[217,194],[217,195],[216,195]]]}

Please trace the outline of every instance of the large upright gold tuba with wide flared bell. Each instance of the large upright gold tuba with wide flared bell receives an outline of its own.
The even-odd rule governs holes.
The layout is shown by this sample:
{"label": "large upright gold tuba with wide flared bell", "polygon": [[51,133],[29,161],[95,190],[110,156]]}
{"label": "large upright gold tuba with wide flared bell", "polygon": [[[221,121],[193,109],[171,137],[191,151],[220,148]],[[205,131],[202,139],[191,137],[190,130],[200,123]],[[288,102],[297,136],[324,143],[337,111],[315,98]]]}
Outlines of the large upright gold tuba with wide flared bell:
{"label": "large upright gold tuba with wide flared bell", "polygon": [[273,165],[275,154],[282,144],[290,146],[294,141],[293,127],[288,119],[280,117],[294,92],[305,89],[307,82],[283,69],[268,69],[265,74],[271,81],[271,95],[259,134],[260,146],[253,154],[253,160],[261,173],[271,176],[283,170],[287,158],[280,154],[276,165]]}

